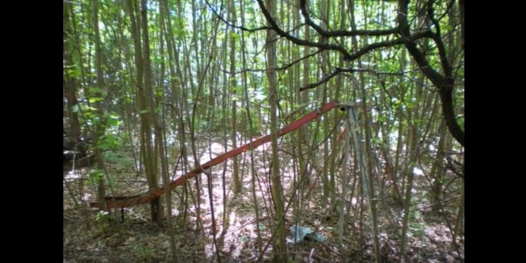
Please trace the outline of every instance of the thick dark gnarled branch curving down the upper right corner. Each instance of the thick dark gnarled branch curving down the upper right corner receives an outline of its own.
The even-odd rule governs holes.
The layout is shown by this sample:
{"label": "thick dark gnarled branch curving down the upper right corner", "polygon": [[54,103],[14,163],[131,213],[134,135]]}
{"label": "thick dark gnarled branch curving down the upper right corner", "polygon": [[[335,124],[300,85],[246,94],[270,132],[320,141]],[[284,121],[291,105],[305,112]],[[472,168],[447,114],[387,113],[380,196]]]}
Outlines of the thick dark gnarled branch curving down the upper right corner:
{"label": "thick dark gnarled branch curving down the upper right corner", "polygon": [[[451,76],[451,73],[452,73],[451,65],[448,63],[447,56],[446,56],[446,48],[440,37],[440,26],[435,19],[433,23],[435,24],[437,28],[437,33],[432,33],[428,29],[427,31],[417,32],[411,35],[411,31],[409,28],[409,22],[407,18],[409,0],[398,0],[398,5],[399,5],[399,12],[397,16],[398,28],[396,29],[384,29],[384,30],[379,30],[379,31],[335,31],[335,32],[327,32],[323,30],[319,25],[312,22],[310,19],[308,10],[307,10],[306,0],[300,0],[300,9],[301,9],[302,15],[305,17],[306,24],[308,24],[313,29],[315,29],[315,31],[322,37],[327,38],[327,37],[335,37],[335,36],[354,36],[354,35],[382,36],[382,35],[389,35],[389,34],[395,34],[395,33],[400,34],[400,37],[397,39],[394,39],[392,41],[373,43],[373,44],[363,47],[362,49],[352,54],[349,53],[349,51],[341,45],[328,44],[326,42],[320,42],[320,43],[311,42],[311,41],[306,41],[305,39],[300,39],[300,38],[290,35],[289,33],[283,31],[278,26],[278,24],[276,23],[276,20],[270,15],[270,13],[268,12],[262,0],[257,0],[257,2],[261,8],[261,13],[265,16],[271,29],[273,29],[277,35],[284,37],[288,39],[289,41],[291,41],[292,43],[300,45],[300,46],[317,47],[319,48],[319,50],[335,50],[341,53],[343,55],[343,59],[347,61],[357,59],[361,57],[362,55],[365,55],[375,49],[392,47],[395,45],[403,44],[407,48],[411,57],[415,60],[415,62],[419,66],[424,76],[426,76],[429,80],[431,80],[431,83],[433,83],[433,85],[437,87],[440,93],[440,101],[442,103],[442,114],[444,116],[444,119],[446,120],[448,129],[451,135],[453,136],[453,138],[455,138],[462,146],[464,146],[464,131],[460,128],[459,124],[456,122],[456,118],[454,114],[454,107],[453,107],[454,78]],[[433,13],[432,13],[433,2],[434,2],[433,0],[430,0],[428,3],[428,15],[432,19],[434,19]],[[461,1],[460,4],[461,4],[461,8],[460,8],[461,13],[463,14],[463,1]],[[439,57],[440,57],[441,65],[444,70],[445,76],[437,72],[436,69],[433,69],[428,59],[426,58],[426,55],[423,54],[418,49],[416,40],[420,38],[424,38],[424,37],[431,38],[437,44],[437,47],[439,50]],[[341,72],[356,72],[356,71],[357,69],[341,69],[341,68],[338,69],[337,68],[335,72],[331,73],[329,76],[325,77],[319,82],[302,87],[300,88],[300,90],[305,90],[308,88],[316,87],[322,83],[327,82],[332,77],[336,76],[337,74]]]}

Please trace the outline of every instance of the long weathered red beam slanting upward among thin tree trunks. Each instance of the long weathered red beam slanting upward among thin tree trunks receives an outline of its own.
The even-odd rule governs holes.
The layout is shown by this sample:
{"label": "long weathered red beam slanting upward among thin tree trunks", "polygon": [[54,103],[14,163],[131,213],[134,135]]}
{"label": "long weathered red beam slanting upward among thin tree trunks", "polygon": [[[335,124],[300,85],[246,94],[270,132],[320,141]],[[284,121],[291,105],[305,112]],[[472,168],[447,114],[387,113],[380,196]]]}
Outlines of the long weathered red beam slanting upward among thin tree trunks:
{"label": "long weathered red beam slanting upward among thin tree trunks", "polygon": [[[284,136],[288,133],[291,133],[292,131],[295,131],[299,129],[301,126],[304,126],[311,120],[317,118],[321,114],[324,114],[331,110],[332,108],[335,108],[338,105],[337,100],[333,100],[332,102],[329,102],[321,107],[320,110],[315,110],[304,117],[302,117],[299,120],[296,120],[295,122],[291,123],[285,128],[282,128],[281,130],[278,130],[276,135],[279,137]],[[168,189],[174,189],[176,186],[182,185],[186,180],[195,177],[196,175],[203,172],[203,170],[208,169],[210,167],[216,166],[223,161],[232,158],[234,156],[240,155],[244,153],[246,150],[254,149],[264,143],[268,143],[270,141],[270,134],[266,135],[265,137],[258,138],[251,143],[245,144],[239,148],[233,149],[228,151],[225,154],[222,154],[207,163],[201,165],[200,167],[195,168],[194,170],[191,170],[186,175],[180,176],[179,178],[175,179],[174,181],[171,181],[171,183],[168,185]],[[164,186],[160,186],[156,189],[150,190],[147,193],[139,196],[130,196],[130,197],[123,197],[119,196],[116,197],[115,200],[112,196],[107,196],[105,198],[106,201],[106,208],[120,208],[120,207],[129,207],[129,206],[135,206],[147,203],[148,201],[154,200],[160,195],[165,193]],[[95,207],[95,208],[102,208],[102,203],[92,202],[89,203],[89,207]]]}

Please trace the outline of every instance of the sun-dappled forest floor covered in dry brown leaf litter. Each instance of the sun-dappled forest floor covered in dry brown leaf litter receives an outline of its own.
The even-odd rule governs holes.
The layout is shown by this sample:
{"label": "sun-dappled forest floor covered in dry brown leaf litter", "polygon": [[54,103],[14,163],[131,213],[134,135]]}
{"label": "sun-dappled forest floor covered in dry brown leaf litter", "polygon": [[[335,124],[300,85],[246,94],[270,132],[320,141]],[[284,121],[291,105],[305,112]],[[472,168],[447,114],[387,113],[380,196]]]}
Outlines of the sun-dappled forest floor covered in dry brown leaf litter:
{"label": "sun-dappled forest floor covered in dry brown leaf litter", "polygon": [[[240,174],[244,176],[242,176],[242,193],[238,197],[233,197],[230,187],[231,160],[228,160],[226,165],[220,164],[212,168],[213,187],[210,190],[207,186],[207,176],[200,175],[199,210],[196,209],[196,193],[184,195],[185,188],[187,191],[195,192],[195,179],[191,179],[187,187],[179,186],[171,191],[174,220],[170,227],[175,230],[179,262],[218,262],[218,256],[221,262],[272,260],[270,240],[274,230],[272,225],[275,223],[271,215],[273,209],[271,209],[266,172],[269,170],[269,163],[267,157],[264,158],[270,149],[266,147],[269,146],[264,145],[254,150],[255,161],[252,164],[255,166],[258,178],[255,181],[255,191],[252,190],[249,151],[239,156]],[[225,148],[219,143],[211,143],[206,148],[208,150],[200,156],[201,164],[225,152]],[[116,159],[119,159],[119,156]],[[122,157],[120,163],[125,163],[124,159],[125,157]],[[194,162],[191,161],[193,157],[188,156],[188,160],[190,167],[193,168]],[[282,169],[284,189],[292,189],[294,176],[291,169],[287,169],[291,167],[291,161],[285,157],[281,161],[281,167],[284,167]],[[118,161],[115,164],[108,163],[107,171],[111,175],[112,188],[115,190],[115,193],[112,193],[108,187],[106,190],[108,195],[134,195],[146,192],[147,183],[144,176],[136,177],[134,175],[136,172],[127,167],[118,165]],[[173,168],[171,169],[173,173]],[[70,168],[64,169],[64,262],[172,262],[166,218],[162,225],[156,225],[151,221],[149,204],[125,208],[123,222],[120,221],[122,216],[120,209],[112,211],[112,215],[108,216],[89,208],[89,201],[96,200],[97,189],[97,185],[90,179],[92,171],[93,168],[83,168],[75,172]],[[182,171],[177,171],[175,177],[182,174]],[[225,195],[222,178],[225,178],[227,186]],[[426,198],[418,198],[422,190],[415,188],[414,196],[417,203],[415,213],[411,214],[406,262],[462,262],[463,239],[457,240],[459,248],[450,251],[452,235],[448,224],[444,223],[445,221],[452,224],[453,212],[447,215],[433,213],[429,204],[426,204]],[[349,233],[342,237],[340,245],[337,230],[339,205],[337,209],[329,206],[322,208],[321,191],[318,185],[302,202],[301,215],[295,213],[294,210],[297,209],[293,209],[291,205],[287,211],[285,224],[289,229],[294,222],[299,221],[300,226],[317,231],[325,237],[325,241],[306,238],[304,242],[294,244],[289,232],[287,237],[289,262],[373,262],[367,209],[361,209],[359,205],[361,201],[353,197],[348,223]],[[288,190],[286,193],[286,200],[290,200],[292,191]],[[216,242],[212,231],[210,194],[213,197],[218,250],[214,249]],[[181,196],[187,198],[186,209]],[[228,200],[226,206],[224,196]],[[164,200],[163,197],[163,203]],[[289,203],[287,201],[286,205]],[[402,208],[389,200],[381,204],[378,222],[382,258],[384,262],[398,262]],[[259,222],[255,215],[256,206],[259,210]],[[199,224],[197,218],[201,219]],[[261,248],[264,249],[262,254],[259,251],[258,240],[262,244]],[[265,249],[266,245],[268,247]],[[263,256],[260,258],[260,255]]]}

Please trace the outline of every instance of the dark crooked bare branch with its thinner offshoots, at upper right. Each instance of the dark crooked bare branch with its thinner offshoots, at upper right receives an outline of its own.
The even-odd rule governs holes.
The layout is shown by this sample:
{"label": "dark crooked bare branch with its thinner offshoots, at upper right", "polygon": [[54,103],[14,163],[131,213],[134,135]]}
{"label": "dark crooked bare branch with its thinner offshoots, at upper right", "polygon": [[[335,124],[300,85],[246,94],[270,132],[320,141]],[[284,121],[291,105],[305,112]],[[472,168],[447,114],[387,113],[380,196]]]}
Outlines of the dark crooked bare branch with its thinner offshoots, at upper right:
{"label": "dark crooked bare branch with its thinner offshoots, at upper right", "polygon": [[[433,83],[434,86],[439,91],[440,94],[440,101],[442,104],[442,114],[444,116],[444,119],[446,120],[446,124],[448,126],[448,129],[453,136],[462,146],[464,146],[464,131],[461,129],[459,124],[456,122],[456,115],[454,114],[454,106],[453,106],[453,87],[454,87],[454,77],[452,76],[453,72],[453,66],[452,63],[448,61],[447,56],[447,49],[446,45],[444,45],[442,41],[442,35],[441,35],[441,28],[439,25],[439,20],[444,17],[444,15],[439,16],[437,18],[434,14],[435,11],[435,5],[436,0],[429,0],[426,5],[424,5],[424,9],[422,9],[425,13],[419,14],[425,14],[428,21],[430,21],[431,25],[433,26],[434,32],[431,30],[431,25],[428,26],[428,28],[420,28],[418,31],[411,33],[411,28],[409,26],[408,21],[408,6],[409,6],[409,0],[398,0],[398,15],[397,15],[397,22],[398,25],[395,28],[388,28],[388,29],[376,29],[376,30],[339,30],[339,31],[328,31],[326,29],[321,28],[318,24],[312,21],[308,6],[306,0],[300,0],[299,1],[299,9],[301,11],[302,16],[305,19],[305,24],[308,25],[311,28],[313,28],[319,36],[321,36],[321,40],[318,42],[309,41],[307,39],[301,39],[299,37],[291,35],[290,32],[286,32],[284,29],[282,29],[276,19],[272,17],[266,8],[264,2],[262,0],[257,0],[260,8],[261,13],[265,16],[268,24],[270,27],[258,27],[254,29],[246,28],[243,26],[236,26],[234,24],[231,24],[227,21],[225,21],[224,18],[222,18],[217,12],[214,10],[214,8],[211,7],[211,5],[206,1],[208,6],[213,10],[214,14],[216,14],[221,21],[224,21],[227,23],[227,25],[239,28],[242,31],[247,32],[254,32],[262,29],[272,29],[276,32],[276,34],[281,37],[285,38],[288,41],[300,45],[300,46],[308,46],[308,47],[315,47],[318,48],[318,52],[322,52],[325,50],[333,50],[336,52],[339,52],[342,54],[343,59],[346,61],[352,61],[356,60],[363,55],[369,54],[370,52],[373,52],[374,50],[382,49],[382,48],[390,48],[395,47],[399,45],[403,45],[408,50],[411,57],[415,60],[417,65],[419,66],[420,71],[426,78],[428,78],[431,83]],[[454,1],[451,1],[448,3],[446,8],[446,13],[452,8]],[[463,1],[460,1],[460,15],[461,15],[461,29],[462,29],[462,39],[463,39]],[[296,28],[295,28],[296,29]],[[293,29],[292,32],[295,30]],[[333,44],[329,43],[327,41],[328,38],[335,38],[335,37],[352,37],[352,36],[393,36],[394,39],[387,40],[387,41],[380,41],[375,42],[369,45],[365,45],[358,50],[355,50],[354,52],[350,52],[348,48],[343,46],[342,44]],[[441,69],[443,70],[443,75],[437,71],[437,69],[433,68],[429,60],[426,58],[426,53],[424,53],[422,50],[418,48],[417,41],[419,39],[423,38],[429,38],[431,39],[438,49],[438,56],[440,60]],[[317,52],[317,53],[318,53]],[[315,53],[316,54],[316,53]],[[296,60],[295,62],[292,62],[285,67],[281,67],[279,69],[286,69],[290,67],[291,65],[294,65],[295,63],[300,62],[301,58]],[[352,69],[352,68],[336,68],[334,72],[326,76],[325,78],[319,80],[316,83],[309,84],[307,86],[301,87],[300,90],[310,89],[316,86],[319,86],[323,83],[328,82],[331,78],[335,77],[336,75],[340,73],[355,73],[355,72],[363,72],[366,71],[366,69]]]}

